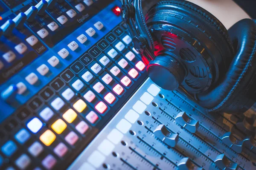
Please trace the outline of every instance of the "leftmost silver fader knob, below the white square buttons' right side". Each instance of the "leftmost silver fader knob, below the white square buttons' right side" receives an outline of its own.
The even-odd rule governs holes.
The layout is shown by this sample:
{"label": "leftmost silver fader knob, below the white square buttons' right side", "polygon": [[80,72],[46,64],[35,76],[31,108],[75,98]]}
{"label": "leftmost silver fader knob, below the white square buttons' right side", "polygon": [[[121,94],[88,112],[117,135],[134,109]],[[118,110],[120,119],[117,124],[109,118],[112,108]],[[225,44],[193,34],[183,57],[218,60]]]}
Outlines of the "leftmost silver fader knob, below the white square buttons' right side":
{"label": "leftmost silver fader knob, below the white square buttons' right side", "polygon": [[157,138],[168,144],[170,147],[175,147],[179,139],[179,135],[170,132],[165,125],[158,125],[153,133]]}

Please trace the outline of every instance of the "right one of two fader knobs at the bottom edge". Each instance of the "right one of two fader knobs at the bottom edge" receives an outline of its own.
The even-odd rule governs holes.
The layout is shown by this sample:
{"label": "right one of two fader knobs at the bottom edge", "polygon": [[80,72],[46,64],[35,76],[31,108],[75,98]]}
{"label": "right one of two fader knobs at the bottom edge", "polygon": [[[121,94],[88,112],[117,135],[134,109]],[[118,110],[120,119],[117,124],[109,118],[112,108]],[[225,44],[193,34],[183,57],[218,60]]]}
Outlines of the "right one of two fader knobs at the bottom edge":
{"label": "right one of two fader knobs at the bottom edge", "polygon": [[225,154],[218,155],[214,160],[214,163],[221,170],[237,170],[238,164],[230,161]]}

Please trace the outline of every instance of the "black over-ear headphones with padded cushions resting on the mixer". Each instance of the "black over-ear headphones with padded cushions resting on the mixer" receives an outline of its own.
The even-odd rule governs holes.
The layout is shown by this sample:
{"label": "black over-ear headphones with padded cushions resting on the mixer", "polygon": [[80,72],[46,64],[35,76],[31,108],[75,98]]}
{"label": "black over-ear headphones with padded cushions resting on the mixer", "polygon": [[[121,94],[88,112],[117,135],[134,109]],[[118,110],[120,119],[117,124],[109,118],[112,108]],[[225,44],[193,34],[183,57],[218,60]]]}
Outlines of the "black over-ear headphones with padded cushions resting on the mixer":
{"label": "black over-ear headphones with padded cushions resting on the mixer", "polygon": [[160,1],[145,18],[141,0],[122,0],[121,16],[161,88],[181,89],[208,112],[244,113],[256,102],[255,21],[240,20],[227,31],[186,0]]}

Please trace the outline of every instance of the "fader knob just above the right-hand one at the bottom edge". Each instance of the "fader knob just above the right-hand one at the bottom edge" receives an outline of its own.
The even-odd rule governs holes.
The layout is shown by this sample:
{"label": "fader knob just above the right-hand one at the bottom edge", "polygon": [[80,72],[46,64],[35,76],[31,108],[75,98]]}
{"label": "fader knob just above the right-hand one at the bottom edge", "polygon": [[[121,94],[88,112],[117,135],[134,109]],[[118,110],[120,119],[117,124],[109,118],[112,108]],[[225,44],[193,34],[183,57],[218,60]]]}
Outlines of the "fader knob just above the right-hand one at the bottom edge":
{"label": "fader knob just above the right-hand one at the bottom edge", "polygon": [[222,137],[222,142],[227,144],[231,149],[237,153],[241,153],[243,149],[243,141],[236,139],[236,137],[231,133],[227,132]]}

